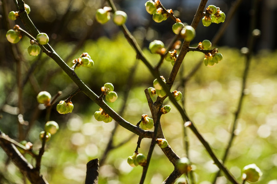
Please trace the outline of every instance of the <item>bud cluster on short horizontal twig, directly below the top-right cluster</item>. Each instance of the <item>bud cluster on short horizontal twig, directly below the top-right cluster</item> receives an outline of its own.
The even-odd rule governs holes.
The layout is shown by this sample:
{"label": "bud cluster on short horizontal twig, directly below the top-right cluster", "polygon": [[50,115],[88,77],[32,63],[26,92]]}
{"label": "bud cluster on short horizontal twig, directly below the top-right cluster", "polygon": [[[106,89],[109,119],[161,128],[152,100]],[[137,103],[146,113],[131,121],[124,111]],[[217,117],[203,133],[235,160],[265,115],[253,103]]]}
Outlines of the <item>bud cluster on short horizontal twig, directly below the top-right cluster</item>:
{"label": "bud cluster on short horizontal twig, directly below the top-right cluster", "polygon": [[[199,42],[197,49],[209,51],[212,48],[212,44],[209,40],[203,40],[202,42]],[[223,59],[223,56],[221,53],[217,51],[217,48],[214,48],[211,50],[211,52],[205,53],[204,58],[204,64],[207,65],[214,65],[214,63],[219,63]]]}

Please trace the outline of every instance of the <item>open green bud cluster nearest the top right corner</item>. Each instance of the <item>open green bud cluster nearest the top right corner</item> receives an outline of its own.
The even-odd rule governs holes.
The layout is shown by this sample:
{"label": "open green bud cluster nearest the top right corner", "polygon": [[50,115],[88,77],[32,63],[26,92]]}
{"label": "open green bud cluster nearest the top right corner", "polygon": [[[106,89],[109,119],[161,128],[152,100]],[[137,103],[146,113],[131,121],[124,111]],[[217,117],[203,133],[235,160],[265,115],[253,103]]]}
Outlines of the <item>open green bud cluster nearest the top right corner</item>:
{"label": "open green bud cluster nearest the top right corner", "polygon": [[205,16],[202,18],[203,26],[210,26],[211,23],[219,24],[225,21],[225,13],[220,10],[219,7],[209,5],[206,8]]}

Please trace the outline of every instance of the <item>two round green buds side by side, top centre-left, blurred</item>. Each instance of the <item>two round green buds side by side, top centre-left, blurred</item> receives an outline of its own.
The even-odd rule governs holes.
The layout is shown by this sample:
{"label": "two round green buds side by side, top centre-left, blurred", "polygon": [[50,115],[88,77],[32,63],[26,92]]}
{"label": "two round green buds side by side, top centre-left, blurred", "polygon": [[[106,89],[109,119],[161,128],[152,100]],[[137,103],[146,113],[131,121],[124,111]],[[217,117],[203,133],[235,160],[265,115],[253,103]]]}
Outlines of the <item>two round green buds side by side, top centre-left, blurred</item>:
{"label": "two round green buds side by side, top centre-left, blurred", "polygon": [[[110,12],[112,11],[111,7],[104,7],[103,9],[98,9],[95,14],[95,19],[100,24],[105,24],[111,19]],[[122,26],[127,20],[127,14],[124,11],[115,11],[113,14],[113,22],[117,26]]]}

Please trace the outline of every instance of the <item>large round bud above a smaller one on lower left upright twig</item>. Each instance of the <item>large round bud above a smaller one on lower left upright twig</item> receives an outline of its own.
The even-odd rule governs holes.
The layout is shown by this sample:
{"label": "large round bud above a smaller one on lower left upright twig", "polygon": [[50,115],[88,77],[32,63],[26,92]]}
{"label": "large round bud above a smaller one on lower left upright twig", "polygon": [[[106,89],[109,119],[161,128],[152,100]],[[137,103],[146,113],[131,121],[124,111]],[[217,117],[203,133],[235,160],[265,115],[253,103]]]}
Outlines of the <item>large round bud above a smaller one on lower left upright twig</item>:
{"label": "large round bud above a smaller one on lower left upright twig", "polygon": [[59,127],[55,121],[48,121],[44,126],[44,131],[39,133],[39,139],[45,142],[48,142],[51,138],[51,135],[55,134],[58,131]]}

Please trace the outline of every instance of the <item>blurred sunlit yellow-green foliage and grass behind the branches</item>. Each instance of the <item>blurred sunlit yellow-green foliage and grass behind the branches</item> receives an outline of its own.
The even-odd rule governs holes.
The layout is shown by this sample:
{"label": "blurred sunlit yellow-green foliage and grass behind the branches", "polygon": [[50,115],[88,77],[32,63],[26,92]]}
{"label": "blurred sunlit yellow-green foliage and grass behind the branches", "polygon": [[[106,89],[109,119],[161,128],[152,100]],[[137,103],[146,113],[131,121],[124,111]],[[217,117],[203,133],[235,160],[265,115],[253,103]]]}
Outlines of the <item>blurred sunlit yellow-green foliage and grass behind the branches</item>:
{"label": "blurred sunlit yellow-green foliage and grass behind the branches", "polygon": [[[25,49],[27,43],[28,40],[23,40],[20,45],[26,57],[25,64],[31,65],[34,62],[39,62],[38,68],[33,73],[36,80],[46,80],[49,83],[46,90],[52,96],[58,90],[63,90],[65,93],[61,99],[67,98],[76,86],[72,85],[70,79],[63,72],[59,71],[54,76],[49,76],[48,74],[57,70],[58,66],[44,55],[41,58],[38,57],[39,61],[37,58],[29,57]],[[71,48],[70,43],[60,42],[55,45],[57,53],[63,57],[69,54]],[[216,155],[221,157],[229,138],[230,124],[233,121],[233,113],[240,96],[245,58],[236,49],[219,48],[219,51],[224,56],[223,61],[213,67],[206,67],[203,64],[196,75],[187,83],[184,94],[188,115],[203,133]],[[82,52],[88,52],[95,65],[91,69],[80,67],[76,73],[98,95],[100,95],[100,88],[104,83],[112,82],[119,98],[111,106],[118,110],[125,100],[122,99],[122,93],[130,68],[135,62],[135,53],[121,34],[113,39],[102,37],[97,41],[88,40]],[[72,59],[78,57],[82,52],[76,54]],[[144,52],[147,58],[152,60],[152,64],[159,61],[157,55],[150,54],[148,50],[144,50]],[[241,117],[238,120],[238,129],[235,131],[238,136],[235,138],[227,162],[227,167],[237,178],[241,177],[241,168],[255,163],[264,173],[260,183],[267,183],[274,179],[277,172],[277,155],[275,152],[277,138],[274,136],[277,133],[277,101],[274,100],[277,99],[275,93],[277,88],[275,57],[277,57],[277,52],[266,51],[252,57],[245,91],[247,96],[243,103]],[[183,64],[185,75],[196,62],[203,58],[202,53],[189,52]],[[165,62],[162,70],[169,72],[171,67],[170,62]],[[15,83],[15,79],[12,77],[13,72],[7,68],[1,68],[0,76],[1,86]],[[47,76],[46,79],[45,76]],[[136,69],[133,88],[130,90],[128,106],[123,116],[132,124],[136,124],[140,120],[141,114],[150,113],[144,89],[152,85],[153,79],[143,63],[140,62]],[[175,89],[179,82],[180,80],[177,80],[172,89]],[[43,86],[44,83],[39,82],[39,85]],[[35,99],[37,91],[34,91],[29,82],[26,85],[24,88],[25,120],[29,120],[33,112],[32,109],[37,106]],[[9,87],[8,89],[13,88]],[[1,94],[0,102],[1,105],[4,105],[6,101],[6,105],[14,108],[17,97],[13,93],[16,93],[16,90],[12,90],[13,92],[10,93],[8,89],[4,90],[4,94]],[[5,99],[6,97],[8,99]],[[72,114],[61,115],[55,111],[55,108],[52,110],[51,120],[57,121],[61,125],[61,129],[47,143],[47,151],[43,157],[42,174],[51,183],[83,183],[86,163],[92,158],[101,157],[114,127],[114,122],[105,124],[94,119],[93,113],[98,107],[83,94],[77,94],[73,97],[72,102],[74,104]],[[40,118],[35,122],[27,139],[34,144],[34,150],[38,150],[41,144],[37,137],[45,121],[45,110],[41,112]],[[1,130],[11,137],[15,137],[16,116],[8,113],[7,110],[4,110],[2,115]],[[183,122],[177,110],[172,106],[171,112],[165,114],[161,121],[170,146],[178,155],[185,156]],[[115,145],[128,139],[130,135],[130,132],[120,127],[115,135]],[[205,183],[204,181],[211,179],[212,173],[215,173],[217,168],[190,131],[189,140],[190,156],[197,183]],[[136,139],[132,139],[126,145],[111,151],[106,164],[100,169],[100,183],[128,183],[131,180],[136,182],[140,179],[142,168],[131,168],[127,164],[127,157],[133,154],[136,141]],[[143,140],[139,151],[147,154],[149,145],[150,140]],[[2,150],[0,151],[0,159],[2,160],[0,172],[4,172],[6,155]],[[29,157],[29,159],[31,158]],[[6,177],[10,178],[11,181],[18,181],[17,177],[20,177],[20,174],[15,167],[12,164],[7,167]],[[156,147],[146,183],[161,183],[172,169],[172,164],[160,148]],[[132,179],[130,180],[130,178]],[[223,180],[222,183],[226,183],[224,177],[221,179]]]}

